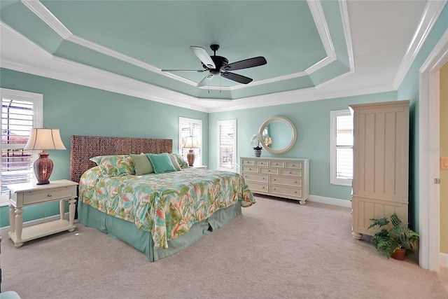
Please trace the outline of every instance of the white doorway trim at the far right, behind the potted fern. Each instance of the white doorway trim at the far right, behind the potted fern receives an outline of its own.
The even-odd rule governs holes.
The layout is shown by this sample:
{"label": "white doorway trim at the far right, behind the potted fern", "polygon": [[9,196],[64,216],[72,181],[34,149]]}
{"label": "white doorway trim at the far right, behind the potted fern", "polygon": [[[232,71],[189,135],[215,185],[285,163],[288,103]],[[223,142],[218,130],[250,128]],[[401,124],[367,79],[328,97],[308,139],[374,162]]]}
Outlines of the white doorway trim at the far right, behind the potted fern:
{"label": "white doorway trim at the far right, behind the potted fern", "polygon": [[440,256],[439,70],[447,62],[448,29],[419,70],[419,265],[433,271]]}

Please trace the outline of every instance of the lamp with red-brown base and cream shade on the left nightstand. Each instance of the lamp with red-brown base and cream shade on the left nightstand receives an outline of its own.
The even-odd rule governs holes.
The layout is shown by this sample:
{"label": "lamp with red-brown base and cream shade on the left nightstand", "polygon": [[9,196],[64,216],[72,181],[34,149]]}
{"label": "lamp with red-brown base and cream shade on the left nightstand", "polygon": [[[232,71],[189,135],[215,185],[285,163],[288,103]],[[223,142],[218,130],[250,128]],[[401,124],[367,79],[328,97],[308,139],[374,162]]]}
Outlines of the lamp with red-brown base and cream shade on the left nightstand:
{"label": "lamp with red-brown base and cream shade on the left nightstand", "polygon": [[31,129],[29,139],[24,150],[42,150],[39,158],[34,161],[34,174],[36,174],[37,185],[50,183],[50,175],[53,170],[53,162],[48,158],[49,153],[44,150],[64,150],[59,129]]}

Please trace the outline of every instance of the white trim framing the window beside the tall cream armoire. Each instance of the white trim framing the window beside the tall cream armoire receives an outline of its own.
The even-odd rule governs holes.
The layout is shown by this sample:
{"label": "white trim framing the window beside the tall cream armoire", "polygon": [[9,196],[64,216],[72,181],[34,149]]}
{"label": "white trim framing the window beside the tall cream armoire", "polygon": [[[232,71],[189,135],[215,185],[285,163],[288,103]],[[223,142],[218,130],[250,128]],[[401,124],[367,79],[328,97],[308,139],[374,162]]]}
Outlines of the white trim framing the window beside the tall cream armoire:
{"label": "white trim framing the window beside the tall cream armoire", "polygon": [[349,109],[330,111],[330,183],[332,185],[351,186],[353,179],[340,179],[336,175],[336,119],[337,116],[350,115]]}

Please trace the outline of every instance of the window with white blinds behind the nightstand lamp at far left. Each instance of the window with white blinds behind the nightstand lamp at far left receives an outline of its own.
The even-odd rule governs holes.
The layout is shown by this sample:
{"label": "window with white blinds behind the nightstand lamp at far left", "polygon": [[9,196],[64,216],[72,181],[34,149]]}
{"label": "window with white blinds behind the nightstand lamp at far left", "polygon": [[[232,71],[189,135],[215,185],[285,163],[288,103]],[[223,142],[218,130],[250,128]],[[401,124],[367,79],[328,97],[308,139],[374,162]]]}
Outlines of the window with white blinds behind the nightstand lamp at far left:
{"label": "window with white blinds behind the nightstand lamp at far left", "polygon": [[42,95],[0,88],[1,95],[1,200],[8,204],[8,184],[34,180],[37,152],[24,151],[32,127],[42,127]]}

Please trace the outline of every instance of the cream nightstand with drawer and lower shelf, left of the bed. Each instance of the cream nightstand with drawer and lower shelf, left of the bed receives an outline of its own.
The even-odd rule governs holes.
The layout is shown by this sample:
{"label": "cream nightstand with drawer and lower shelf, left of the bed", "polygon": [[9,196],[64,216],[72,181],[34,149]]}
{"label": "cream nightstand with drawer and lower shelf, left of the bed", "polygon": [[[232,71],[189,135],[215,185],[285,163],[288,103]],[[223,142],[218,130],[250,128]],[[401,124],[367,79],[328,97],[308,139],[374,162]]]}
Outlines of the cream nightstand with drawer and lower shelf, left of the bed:
{"label": "cream nightstand with drawer and lower shelf, left of the bed", "polygon": [[[46,185],[36,185],[35,183],[8,185],[10,194],[10,232],[8,232],[8,235],[13,240],[14,246],[19,248],[24,242],[64,230],[73,232],[76,228],[73,221],[75,218],[75,198],[78,196],[77,186],[78,183],[69,180],[50,181]],[[32,225],[27,228],[23,227],[23,207],[55,200],[59,200],[59,220]],[[69,201],[69,221],[64,219],[65,202],[67,200]]]}

